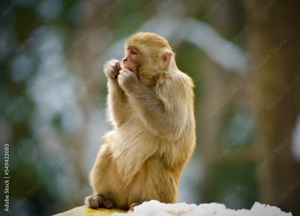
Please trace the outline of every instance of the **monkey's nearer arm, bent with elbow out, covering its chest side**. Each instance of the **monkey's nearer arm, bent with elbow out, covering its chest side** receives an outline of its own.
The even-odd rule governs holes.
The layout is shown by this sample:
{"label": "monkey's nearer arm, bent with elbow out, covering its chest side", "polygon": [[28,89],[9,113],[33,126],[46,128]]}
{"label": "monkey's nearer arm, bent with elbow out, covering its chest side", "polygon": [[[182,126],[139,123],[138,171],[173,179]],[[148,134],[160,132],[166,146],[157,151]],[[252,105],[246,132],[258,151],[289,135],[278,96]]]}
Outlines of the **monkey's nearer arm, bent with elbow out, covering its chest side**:
{"label": "monkey's nearer arm, bent with elbow out, covering its chest side", "polygon": [[189,86],[181,77],[166,80],[156,93],[132,72],[124,71],[120,73],[119,84],[146,127],[168,140],[178,139],[193,113],[193,84]]}

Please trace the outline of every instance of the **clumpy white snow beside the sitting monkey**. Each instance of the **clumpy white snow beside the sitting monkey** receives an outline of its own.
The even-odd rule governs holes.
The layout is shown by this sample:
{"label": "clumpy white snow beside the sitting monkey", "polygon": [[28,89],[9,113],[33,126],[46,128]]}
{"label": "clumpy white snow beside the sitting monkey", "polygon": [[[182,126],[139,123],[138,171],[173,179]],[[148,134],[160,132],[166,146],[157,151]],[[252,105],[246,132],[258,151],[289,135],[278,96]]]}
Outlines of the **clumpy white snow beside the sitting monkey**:
{"label": "clumpy white snow beside the sitting monkey", "polygon": [[127,213],[113,213],[112,216],[292,216],[275,206],[255,202],[250,210],[232,210],[220,203],[204,203],[200,205],[185,202],[166,204],[157,200],[143,202]]}

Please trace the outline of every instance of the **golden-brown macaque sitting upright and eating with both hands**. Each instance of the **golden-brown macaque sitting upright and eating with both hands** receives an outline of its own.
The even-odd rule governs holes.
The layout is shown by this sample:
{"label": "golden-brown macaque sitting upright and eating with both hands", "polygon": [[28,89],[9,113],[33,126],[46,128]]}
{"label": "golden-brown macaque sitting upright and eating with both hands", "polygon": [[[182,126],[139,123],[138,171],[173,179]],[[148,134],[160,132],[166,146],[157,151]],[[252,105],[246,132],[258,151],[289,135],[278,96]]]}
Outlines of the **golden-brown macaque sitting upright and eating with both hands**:
{"label": "golden-brown macaque sitting upright and eating with both hands", "polygon": [[113,130],[104,135],[90,173],[95,193],[85,198],[89,208],[176,202],[196,144],[193,81],[178,69],[168,41],[139,32],[124,48],[122,62],[104,65]]}

